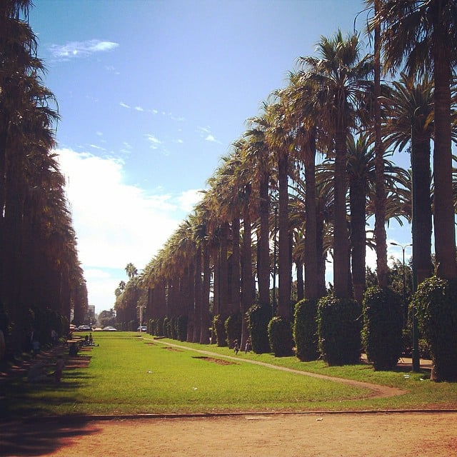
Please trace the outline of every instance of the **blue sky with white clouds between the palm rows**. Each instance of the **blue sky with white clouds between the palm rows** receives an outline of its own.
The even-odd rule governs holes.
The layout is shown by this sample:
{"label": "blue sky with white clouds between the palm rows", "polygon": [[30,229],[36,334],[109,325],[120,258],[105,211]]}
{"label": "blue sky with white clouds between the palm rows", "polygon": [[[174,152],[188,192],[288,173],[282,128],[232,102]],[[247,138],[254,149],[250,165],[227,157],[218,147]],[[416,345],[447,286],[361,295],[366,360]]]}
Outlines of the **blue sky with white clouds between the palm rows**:
{"label": "blue sky with white clouds between the palm rows", "polygon": [[[29,19],[59,104],[59,160],[96,312],[114,306],[126,264],[141,271],[189,214],[298,56],[352,31],[362,10],[361,0],[36,1]],[[389,241],[408,243],[402,232]]]}

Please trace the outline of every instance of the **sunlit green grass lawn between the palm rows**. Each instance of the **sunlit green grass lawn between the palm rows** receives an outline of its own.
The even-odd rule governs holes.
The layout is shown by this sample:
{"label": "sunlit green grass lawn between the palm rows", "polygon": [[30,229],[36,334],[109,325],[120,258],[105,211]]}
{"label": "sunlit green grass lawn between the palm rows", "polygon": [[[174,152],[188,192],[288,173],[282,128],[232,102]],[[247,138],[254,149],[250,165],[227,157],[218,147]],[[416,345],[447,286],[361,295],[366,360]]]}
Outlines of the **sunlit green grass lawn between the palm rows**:
{"label": "sunlit green grass lawn between the palm rows", "polygon": [[[94,333],[99,346],[81,351],[87,368],[67,368],[61,384],[27,383],[6,386],[11,416],[129,413],[216,413],[234,411],[335,411],[398,408],[457,408],[457,385],[431,383],[428,373],[375,372],[366,364],[327,367],[295,357],[238,353],[229,348],[154,340],[133,332]],[[211,357],[175,348],[178,344],[212,351]],[[392,398],[371,398],[371,391],[333,381],[287,373],[246,363],[253,359],[402,388]]]}

